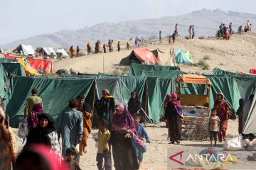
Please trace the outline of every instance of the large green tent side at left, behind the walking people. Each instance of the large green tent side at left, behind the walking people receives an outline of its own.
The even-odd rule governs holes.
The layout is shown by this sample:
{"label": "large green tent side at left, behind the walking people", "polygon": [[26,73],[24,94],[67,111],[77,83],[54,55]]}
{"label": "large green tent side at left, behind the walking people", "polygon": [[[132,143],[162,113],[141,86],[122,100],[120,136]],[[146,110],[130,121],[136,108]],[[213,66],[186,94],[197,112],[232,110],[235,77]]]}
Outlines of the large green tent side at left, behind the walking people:
{"label": "large green tent side at left, behind the walking people", "polygon": [[[33,88],[38,89],[38,96],[43,99],[43,111],[50,113],[58,126],[60,115],[68,108],[68,101],[79,94],[87,96],[94,79],[50,79],[32,77],[14,77],[11,84],[9,103],[6,114],[11,126],[17,127],[23,120],[26,98],[31,96]],[[92,96],[93,98],[93,96]]]}

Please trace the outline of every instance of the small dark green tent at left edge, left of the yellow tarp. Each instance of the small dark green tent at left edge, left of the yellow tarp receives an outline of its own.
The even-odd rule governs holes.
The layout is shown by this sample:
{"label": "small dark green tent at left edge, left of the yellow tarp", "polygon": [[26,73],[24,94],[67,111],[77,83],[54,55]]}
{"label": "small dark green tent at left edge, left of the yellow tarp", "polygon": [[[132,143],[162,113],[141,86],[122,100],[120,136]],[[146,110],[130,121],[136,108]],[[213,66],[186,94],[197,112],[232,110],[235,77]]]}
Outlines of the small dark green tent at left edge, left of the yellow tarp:
{"label": "small dark green tent at left edge, left of the yellow tarp", "polygon": [[25,69],[20,63],[1,63],[6,72],[16,76],[26,76]]}

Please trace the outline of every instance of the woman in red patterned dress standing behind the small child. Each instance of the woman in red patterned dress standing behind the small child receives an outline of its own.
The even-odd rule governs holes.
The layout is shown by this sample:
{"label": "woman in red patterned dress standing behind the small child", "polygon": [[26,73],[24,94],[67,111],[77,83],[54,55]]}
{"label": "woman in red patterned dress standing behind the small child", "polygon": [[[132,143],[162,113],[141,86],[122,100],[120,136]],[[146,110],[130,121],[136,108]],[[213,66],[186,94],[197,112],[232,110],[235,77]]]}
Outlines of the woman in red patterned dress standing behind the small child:
{"label": "woman in red patterned dress standing behind the small child", "polygon": [[215,108],[217,112],[216,115],[220,118],[218,140],[222,142],[225,141],[225,135],[228,129],[228,119],[230,118],[230,106],[228,105],[228,102],[225,101],[223,94],[217,94],[217,100],[215,101],[213,108]]}

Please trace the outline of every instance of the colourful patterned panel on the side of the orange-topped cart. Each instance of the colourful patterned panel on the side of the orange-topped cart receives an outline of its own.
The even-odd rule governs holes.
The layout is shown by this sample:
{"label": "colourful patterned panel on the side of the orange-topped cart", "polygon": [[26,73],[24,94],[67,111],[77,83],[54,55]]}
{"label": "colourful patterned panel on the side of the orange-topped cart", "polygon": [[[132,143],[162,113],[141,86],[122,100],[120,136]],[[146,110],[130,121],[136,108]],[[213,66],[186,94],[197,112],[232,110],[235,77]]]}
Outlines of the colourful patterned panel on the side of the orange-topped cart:
{"label": "colourful patterned panel on the side of the orange-topped cart", "polygon": [[206,117],[207,108],[201,106],[182,106],[183,116]]}

